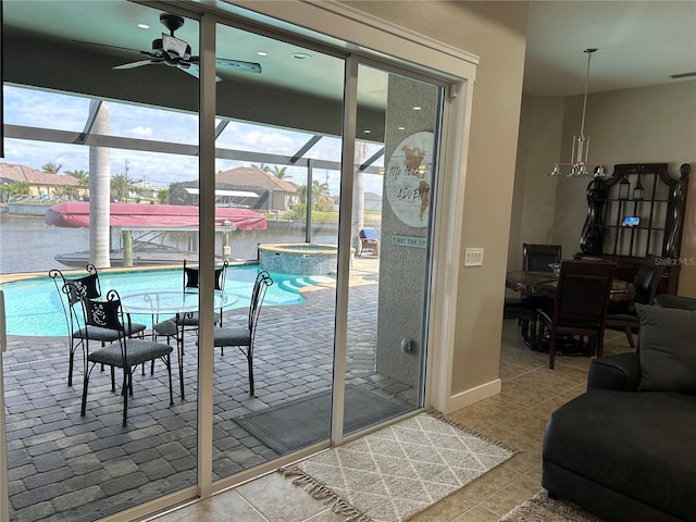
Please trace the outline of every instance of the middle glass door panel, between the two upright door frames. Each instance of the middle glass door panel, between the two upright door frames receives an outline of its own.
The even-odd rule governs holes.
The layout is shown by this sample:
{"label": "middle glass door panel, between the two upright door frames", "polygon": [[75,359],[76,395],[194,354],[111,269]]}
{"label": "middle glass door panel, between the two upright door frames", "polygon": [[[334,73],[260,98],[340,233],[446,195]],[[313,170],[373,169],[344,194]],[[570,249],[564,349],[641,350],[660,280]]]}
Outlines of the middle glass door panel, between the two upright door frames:
{"label": "middle glass door panel, between the two upright door frames", "polygon": [[252,349],[215,348],[214,480],[330,438],[344,75],[343,59],[227,25],[216,55],[244,62],[217,71],[216,204],[264,217],[229,231],[223,328],[249,332],[257,274],[273,284]]}

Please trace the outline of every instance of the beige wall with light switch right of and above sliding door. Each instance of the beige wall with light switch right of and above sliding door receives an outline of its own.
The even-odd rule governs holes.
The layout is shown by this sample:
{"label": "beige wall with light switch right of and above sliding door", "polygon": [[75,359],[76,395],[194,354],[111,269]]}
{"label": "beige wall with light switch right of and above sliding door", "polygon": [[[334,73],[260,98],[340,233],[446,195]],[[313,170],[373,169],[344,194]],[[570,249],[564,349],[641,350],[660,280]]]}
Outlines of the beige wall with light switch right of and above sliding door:
{"label": "beige wall with light switch right of and above sliding door", "polygon": [[451,378],[451,395],[465,395],[498,378],[527,3],[346,3],[481,59],[471,108],[461,239],[464,248],[483,247],[485,253],[483,266],[460,270]]}

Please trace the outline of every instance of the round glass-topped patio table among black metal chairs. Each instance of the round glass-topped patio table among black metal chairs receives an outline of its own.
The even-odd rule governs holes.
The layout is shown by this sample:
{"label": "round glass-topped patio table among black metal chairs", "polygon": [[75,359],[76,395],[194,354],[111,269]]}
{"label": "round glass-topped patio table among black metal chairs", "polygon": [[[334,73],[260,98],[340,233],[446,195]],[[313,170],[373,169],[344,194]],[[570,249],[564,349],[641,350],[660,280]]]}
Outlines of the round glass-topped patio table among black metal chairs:
{"label": "round glass-topped patio table among black metal chairs", "polygon": [[[231,308],[239,300],[236,294],[228,291],[215,291],[213,297],[213,310]],[[161,318],[175,318],[171,323],[171,331],[162,331],[161,335],[169,335],[176,339],[176,355],[178,361],[178,376],[182,399],[184,399],[184,332],[179,331],[177,323],[186,316],[198,312],[198,293],[177,289],[153,289],[121,295],[123,311],[129,314],[150,315],[152,336],[157,335],[154,326]],[[160,323],[160,325],[163,323]],[[171,333],[170,333],[171,332]]]}

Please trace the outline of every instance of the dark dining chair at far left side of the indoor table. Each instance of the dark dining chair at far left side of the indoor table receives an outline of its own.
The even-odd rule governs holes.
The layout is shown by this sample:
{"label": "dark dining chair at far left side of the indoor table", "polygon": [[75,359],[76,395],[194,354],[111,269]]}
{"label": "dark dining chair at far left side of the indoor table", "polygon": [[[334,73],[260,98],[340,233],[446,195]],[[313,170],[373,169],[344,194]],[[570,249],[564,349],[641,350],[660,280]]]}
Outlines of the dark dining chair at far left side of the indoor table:
{"label": "dark dining chair at far left side of the indoor table", "polygon": [[[560,245],[522,245],[522,268],[530,272],[552,272],[549,263],[561,262]],[[502,319],[517,319],[522,328],[522,338],[533,349],[537,347],[539,308],[548,308],[546,297],[522,294],[521,297],[509,297],[502,306]]]}

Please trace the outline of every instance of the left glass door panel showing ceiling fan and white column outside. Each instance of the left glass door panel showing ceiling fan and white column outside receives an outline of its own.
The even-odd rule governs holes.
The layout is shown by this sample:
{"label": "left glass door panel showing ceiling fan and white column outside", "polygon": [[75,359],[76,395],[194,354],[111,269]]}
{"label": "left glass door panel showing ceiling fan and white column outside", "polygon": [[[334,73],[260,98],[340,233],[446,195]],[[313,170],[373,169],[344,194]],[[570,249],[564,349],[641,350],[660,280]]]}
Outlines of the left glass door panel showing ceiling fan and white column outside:
{"label": "left glass door panel showing ceiling fan and white column outside", "polygon": [[[23,28],[36,13],[61,23],[29,37]],[[160,22],[170,21],[196,54],[199,24],[161,15],[126,1],[4,4],[3,50],[21,58],[4,64],[2,177],[15,181],[0,221],[3,279],[21,279],[2,284],[11,520],[91,521],[195,494],[196,339],[156,336],[153,325],[191,310],[179,308],[182,266],[198,263],[198,207],[170,203],[181,203],[172,187],[198,181],[198,79],[140,51],[175,45],[162,44],[170,29]],[[84,357],[101,343],[71,338],[62,276],[53,272],[57,289],[48,273],[82,277],[88,262],[101,299],[116,290],[145,338],[172,346],[173,403],[161,360],[133,372],[132,390],[121,369],[112,382],[110,366],[97,364],[80,414]]]}

